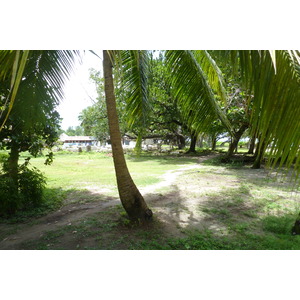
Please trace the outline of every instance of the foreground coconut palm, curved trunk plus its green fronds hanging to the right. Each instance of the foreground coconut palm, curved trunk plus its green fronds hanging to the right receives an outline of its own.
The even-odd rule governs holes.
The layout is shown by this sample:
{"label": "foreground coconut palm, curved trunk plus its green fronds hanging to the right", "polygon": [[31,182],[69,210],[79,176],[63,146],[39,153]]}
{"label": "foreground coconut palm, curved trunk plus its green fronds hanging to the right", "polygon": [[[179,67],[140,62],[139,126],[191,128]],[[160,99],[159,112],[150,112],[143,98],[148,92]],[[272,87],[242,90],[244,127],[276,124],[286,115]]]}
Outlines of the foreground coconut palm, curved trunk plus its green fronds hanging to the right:
{"label": "foreground coconut palm, curved trunk plus its green fronds hanging to the right", "polygon": [[[119,76],[122,77],[122,87],[130,91],[126,109],[129,123],[131,125],[138,124],[143,128],[147,123],[148,111],[151,109],[147,92],[148,58],[147,51],[123,50],[103,52],[107,115],[118,190],[123,207],[133,220],[150,219],[152,211],[148,208],[141,193],[135,186],[126,166],[116,112],[112,67],[114,62],[116,68],[121,69]],[[181,63],[181,61],[184,63]],[[202,70],[197,61],[201,62],[206,72]],[[197,126],[207,126],[216,116],[219,116],[230,131],[230,123],[217,104],[211,88],[213,86],[220,98],[225,100],[222,77],[220,70],[208,52],[169,51],[167,52],[167,62],[170,66],[170,71],[174,74],[174,86],[179,86],[175,97],[181,99],[187,124],[195,123],[193,112],[200,110],[202,116],[197,120]],[[192,74],[193,78],[189,78],[189,74]],[[187,77],[188,85],[181,89],[180,86],[186,83]],[[181,78],[184,78],[185,82],[181,81]],[[194,98],[193,101],[189,102],[192,98],[192,93],[194,93]]]}

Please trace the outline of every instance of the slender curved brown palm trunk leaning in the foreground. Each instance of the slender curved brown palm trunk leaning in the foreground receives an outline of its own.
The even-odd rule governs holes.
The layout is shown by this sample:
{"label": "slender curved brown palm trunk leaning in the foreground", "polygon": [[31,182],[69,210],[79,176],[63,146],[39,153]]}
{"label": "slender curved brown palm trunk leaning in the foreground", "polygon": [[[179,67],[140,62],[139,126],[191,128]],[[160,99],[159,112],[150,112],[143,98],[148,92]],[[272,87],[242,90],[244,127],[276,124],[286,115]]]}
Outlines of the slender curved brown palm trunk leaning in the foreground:
{"label": "slender curved brown palm trunk leaning in the foreground", "polygon": [[112,62],[107,50],[103,51],[103,72],[109,133],[119,196],[131,220],[151,219],[152,211],[133,182],[125,161],[116,109]]}

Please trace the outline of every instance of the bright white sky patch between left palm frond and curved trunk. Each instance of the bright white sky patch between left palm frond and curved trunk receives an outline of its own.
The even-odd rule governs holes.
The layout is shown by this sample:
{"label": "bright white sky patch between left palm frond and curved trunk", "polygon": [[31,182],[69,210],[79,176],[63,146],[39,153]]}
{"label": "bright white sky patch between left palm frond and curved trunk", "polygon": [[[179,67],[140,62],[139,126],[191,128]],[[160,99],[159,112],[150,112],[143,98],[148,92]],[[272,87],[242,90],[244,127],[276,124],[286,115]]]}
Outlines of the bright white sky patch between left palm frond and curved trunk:
{"label": "bright white sky patch between left palm frond and curved trunk", "polygon": [[[95,51],[102,57],[101,51]],[[60,117],[63,118],[61,127],[66,130],[69,126],[80,125],[79,113],[93,104],[91,99],[96,99],[96,87],[89,79],[89,69],[102,70],[102,60],[89,51],[85,52],[82,64],[76,63],[74,74],[65,84],[65,98],[58,106]]]}

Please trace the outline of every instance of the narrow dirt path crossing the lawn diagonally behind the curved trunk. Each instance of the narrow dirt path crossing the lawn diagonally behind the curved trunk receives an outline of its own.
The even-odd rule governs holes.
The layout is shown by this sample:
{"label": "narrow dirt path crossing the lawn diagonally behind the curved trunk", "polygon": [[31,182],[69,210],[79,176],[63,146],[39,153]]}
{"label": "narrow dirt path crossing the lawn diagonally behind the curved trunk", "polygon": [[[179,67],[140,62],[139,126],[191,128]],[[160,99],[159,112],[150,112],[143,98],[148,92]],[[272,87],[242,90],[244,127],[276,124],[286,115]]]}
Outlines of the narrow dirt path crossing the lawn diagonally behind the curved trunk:
{"label": "narrow dirt path crossing the lawn diagonally behind the curved trunk", "polygon": [[[182,175],[188,170],[201,168],[201,164],[199,163],[211,157],[212,156],[199,158],[198,163],[196,164],[183,166],[180,169],[168,171],[161,177],[162,180],[159,183],[141,188],[140,190],[142,194],[145,195],[146,201],[150,203],[152,200],[155,200],[155,197],[153,198],[149,194],[155,193],[155,191],[158,189],[171,186],[176,181],[178,176]],[[95,193],[95,191],[92,192]],[[68,202],[68,199],[66,202]],[[37,219],[34,224],[22,224],[17,229],[16,233],[10,234],[0,241],[0,249],[15,249],[18,245],[25,241],[35,240],[42,237],[45,232],[57,230],[62,226],[71,225],[73,222],[75,223],[87,216],[91,216],[117,204],[120,204],[119,199],[110,198],[110,200],[101,202],[66,205],[56,212]],[[0,230],[1,227],[5,227],[6,229],[9,228],[8,225],[1,225]],[[13,225],[11,228],[13,228]]]}

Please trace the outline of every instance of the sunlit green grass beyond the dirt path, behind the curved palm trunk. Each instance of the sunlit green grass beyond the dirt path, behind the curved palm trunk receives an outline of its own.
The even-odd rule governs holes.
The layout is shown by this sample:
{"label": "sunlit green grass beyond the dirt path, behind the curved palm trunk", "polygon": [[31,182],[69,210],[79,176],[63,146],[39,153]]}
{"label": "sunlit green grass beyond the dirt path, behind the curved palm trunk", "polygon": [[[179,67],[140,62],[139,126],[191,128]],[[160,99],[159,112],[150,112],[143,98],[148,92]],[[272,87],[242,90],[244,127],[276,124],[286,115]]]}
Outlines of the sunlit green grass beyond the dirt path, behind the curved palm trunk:
{"label": "sunlit green grass beyond the dirt path, behind the curved palm trunk", "polygon": [[[7,156],[6,151],[0,152],[1,157]],[[20,163],[30,156],[22,153]],[[64,199],[68,203],[86,203],[117,197],[117,184],[113,160],[108,153],[56,153],[53,164],[45,165],[45,156],[31,158],[30,164],[37,167],[46,176],[47,186],[44,191],[41,206],[18,212],[9,219],[0,219],[5,223],[24,222],[33,217],[39,217],[59,208]],[[172,156],[152,156],[144,154],[140,157],[127,155],[127,164],[131,176],[139,187],[155,184],[159,176],[168,170],[175,170],[182,165],[195,163],[193,158]],[[101,195],[89,190],[101,191]]]}

